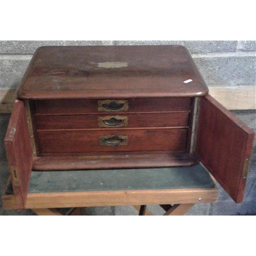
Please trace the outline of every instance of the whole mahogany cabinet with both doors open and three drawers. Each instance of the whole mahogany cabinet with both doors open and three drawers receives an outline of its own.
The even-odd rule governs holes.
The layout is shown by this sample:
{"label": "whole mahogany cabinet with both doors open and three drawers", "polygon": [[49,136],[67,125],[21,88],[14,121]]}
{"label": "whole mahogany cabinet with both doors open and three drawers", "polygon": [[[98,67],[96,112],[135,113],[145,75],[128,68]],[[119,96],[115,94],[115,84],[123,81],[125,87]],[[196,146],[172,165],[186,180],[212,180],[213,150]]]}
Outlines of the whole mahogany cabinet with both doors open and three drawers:
{"label": "whole mahogany cabinet with both doors open and three drawers", "polygon": [[254,134],[183,46],[37,49],[5,138],[17,208],[32,170],[191,166],[242,202]]}

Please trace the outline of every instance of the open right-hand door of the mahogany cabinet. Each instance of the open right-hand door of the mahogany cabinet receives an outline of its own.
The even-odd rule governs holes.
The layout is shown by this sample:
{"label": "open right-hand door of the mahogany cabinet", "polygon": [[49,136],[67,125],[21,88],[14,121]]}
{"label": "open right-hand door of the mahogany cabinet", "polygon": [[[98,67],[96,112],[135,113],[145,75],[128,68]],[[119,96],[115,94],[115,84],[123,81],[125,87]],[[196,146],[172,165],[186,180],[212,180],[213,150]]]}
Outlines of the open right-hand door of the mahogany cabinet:
{"label": "open right-hand door of the mahogany cabinet", "polygon": [[200,102],[195,155],[230,197],[241,203],[254,133],[210,95]]}

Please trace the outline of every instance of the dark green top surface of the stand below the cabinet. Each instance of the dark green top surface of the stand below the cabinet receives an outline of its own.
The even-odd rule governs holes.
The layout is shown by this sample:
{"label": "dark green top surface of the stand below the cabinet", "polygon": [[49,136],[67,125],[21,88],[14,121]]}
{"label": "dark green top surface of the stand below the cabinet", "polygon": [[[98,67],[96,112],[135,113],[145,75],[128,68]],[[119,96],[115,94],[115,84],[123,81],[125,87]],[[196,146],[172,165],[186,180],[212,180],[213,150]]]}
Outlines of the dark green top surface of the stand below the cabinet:
{"label": "dark green top surface of the stand below the cabinet", "polygon": [[[214,183],[208,171],[197,164],[171,168],[33,171],[29,193],[212,187]],[[11,189],[8,191],[12,194]]]}

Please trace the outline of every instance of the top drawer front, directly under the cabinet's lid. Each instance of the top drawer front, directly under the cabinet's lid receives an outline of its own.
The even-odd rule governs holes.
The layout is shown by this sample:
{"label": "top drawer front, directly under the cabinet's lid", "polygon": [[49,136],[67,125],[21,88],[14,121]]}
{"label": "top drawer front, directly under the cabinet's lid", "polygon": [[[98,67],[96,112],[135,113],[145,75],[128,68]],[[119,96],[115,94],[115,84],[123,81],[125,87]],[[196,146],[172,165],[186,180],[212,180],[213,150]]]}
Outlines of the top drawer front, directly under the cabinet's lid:
{"label": "top drawer front, directly under the cabinet's lid", "polygon": [[126,100],[35,100],[34,111],[36,114],[189,111],[190,101],[190,98],[133,98]]}

